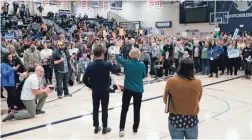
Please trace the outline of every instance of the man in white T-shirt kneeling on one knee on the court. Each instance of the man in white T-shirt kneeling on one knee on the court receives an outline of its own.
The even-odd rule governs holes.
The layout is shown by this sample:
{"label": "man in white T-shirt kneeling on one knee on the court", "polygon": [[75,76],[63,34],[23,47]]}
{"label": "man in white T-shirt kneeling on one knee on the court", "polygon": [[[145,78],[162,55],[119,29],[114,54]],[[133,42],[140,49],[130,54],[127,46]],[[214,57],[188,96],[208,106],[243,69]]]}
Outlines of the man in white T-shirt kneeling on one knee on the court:
{"label": "man in white T-shirt kneeling on one knee on the court", "polygon": [[[45,111],[42,111],[45,100],[47,98],[47,93],[51,93],[52,90],[49,87],[43,87],[41,83],[41,78],[43,77],[44,69],[41,66],[37,66],[35,73],[31,74],[23,85],[21,92],[21,100],[26,107],[26,111],[20,112],[10,112],[2,121],[8,120],[22,120],[34,118],[38,114],[44,114]],[[35,104],[35,100],[38,100],[38,103]]]}

